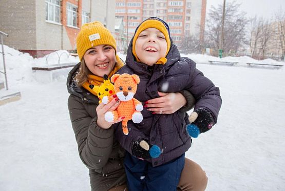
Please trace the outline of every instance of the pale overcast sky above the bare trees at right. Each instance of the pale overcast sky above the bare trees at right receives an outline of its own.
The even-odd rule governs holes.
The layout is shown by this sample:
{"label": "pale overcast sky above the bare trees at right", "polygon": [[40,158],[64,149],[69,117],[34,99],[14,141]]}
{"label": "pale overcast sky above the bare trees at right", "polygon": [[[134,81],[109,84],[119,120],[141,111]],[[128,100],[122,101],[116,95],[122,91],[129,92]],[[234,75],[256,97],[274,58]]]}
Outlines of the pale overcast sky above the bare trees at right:
{"label": "pale overcast sky above the bare trees at right", "polygon": [[[226,0],[226,2],[232,2],[233,0]],[[282,8],[285,11],[285,1],[284,0],[236,0],[238,3],[242,3],[240,8],[242,11],[246,12],[248,17],[253,17],[255,15],[263,16],[265,18],[274,17],[274,13]],[[207,0],[207,11],[211,6],[217,7],[217,5],[222,4],[223,0]]]}

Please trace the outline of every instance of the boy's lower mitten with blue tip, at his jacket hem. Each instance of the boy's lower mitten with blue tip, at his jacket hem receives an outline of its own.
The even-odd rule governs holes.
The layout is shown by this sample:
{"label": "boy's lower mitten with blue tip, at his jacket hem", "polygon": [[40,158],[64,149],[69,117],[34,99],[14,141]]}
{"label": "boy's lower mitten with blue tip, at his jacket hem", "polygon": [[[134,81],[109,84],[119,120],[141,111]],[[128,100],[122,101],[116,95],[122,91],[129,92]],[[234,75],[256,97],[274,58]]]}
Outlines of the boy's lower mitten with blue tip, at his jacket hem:
{"label": "boy's lower mitten with blue tip, at his jacket hem", "polygon": [[161,154],[157,145],[148,144],[145,139],[135,141],[131,150],[133,155],[141,159],[158,158]]}

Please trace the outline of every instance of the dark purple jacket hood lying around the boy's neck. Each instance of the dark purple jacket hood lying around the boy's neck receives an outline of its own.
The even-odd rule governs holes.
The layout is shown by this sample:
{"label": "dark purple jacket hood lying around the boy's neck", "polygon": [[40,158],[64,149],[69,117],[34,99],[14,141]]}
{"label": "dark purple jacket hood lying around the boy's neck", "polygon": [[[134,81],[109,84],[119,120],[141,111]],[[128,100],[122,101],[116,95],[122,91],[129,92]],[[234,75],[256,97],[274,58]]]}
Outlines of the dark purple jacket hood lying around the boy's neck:
{"label": "dark purple jacket hood lying around the boy's neck", "polygon": [[[129,46],[128,46],[126,65],[140,73],[141,70],[146,70],[149,66],[147,64],[136,61],[135,55],[132,53],[132,41],[133,40],[134,40],[134,37],[132,37],[132,39],[130,40]],[[167,62],[164,65],[161,65],[164,68],[164,71],[166,71],[171,65],[175,64],[180,59],[180,53],[177,49],[177,46],[173,44],[171,37],[170,37],[170,44],[171,45],[170,45],[169,52],[166,55]]]}

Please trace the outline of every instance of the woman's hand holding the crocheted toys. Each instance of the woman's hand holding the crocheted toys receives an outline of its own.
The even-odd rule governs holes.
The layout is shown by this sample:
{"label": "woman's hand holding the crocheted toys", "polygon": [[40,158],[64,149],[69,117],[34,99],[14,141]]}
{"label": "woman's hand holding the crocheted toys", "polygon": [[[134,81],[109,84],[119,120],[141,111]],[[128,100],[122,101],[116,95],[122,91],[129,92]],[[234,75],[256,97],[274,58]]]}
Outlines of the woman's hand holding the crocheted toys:
{"label": "woman's hand holding the crocheted toys", "polygon": [[107,111],[113,111],[115,110],[120,104],[120,100],[118,98],[112,99],[109,103],[107,104],[103,104],[100,103],[97,108],[96,108],[96,112],[97,112],[97,124],[99,125],[99,127],[103,128],[103,129],[108,129],[111,127],[112,124],[114,123],[118,123],[120,121],[122,121],[124,119],[124,117],[120,117],[118,118],[118,120],[109,123],[105,120],[105,113]]}

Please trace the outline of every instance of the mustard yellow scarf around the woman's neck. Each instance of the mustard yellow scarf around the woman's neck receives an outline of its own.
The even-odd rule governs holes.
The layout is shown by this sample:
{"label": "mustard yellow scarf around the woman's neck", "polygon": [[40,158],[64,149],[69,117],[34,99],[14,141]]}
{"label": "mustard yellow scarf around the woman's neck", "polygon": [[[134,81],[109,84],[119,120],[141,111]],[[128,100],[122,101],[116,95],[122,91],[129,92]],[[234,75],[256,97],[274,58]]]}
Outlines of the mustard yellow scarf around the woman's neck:
{"label": "mustard yellow scarf around the woman's neck", "polygon": [[[120,59],[120,57],[116,54],[116,64],[113,70],[108,75],[110,79],[113,74],[115,74],[120,68],[124,66],[124,62]],[[98,77],[97,75],[88,75],[88,80],[82,84],[82,86],[87,89],[93,95],[97,95],[97,91],[99,86],[103,83],[103,77]]]}

